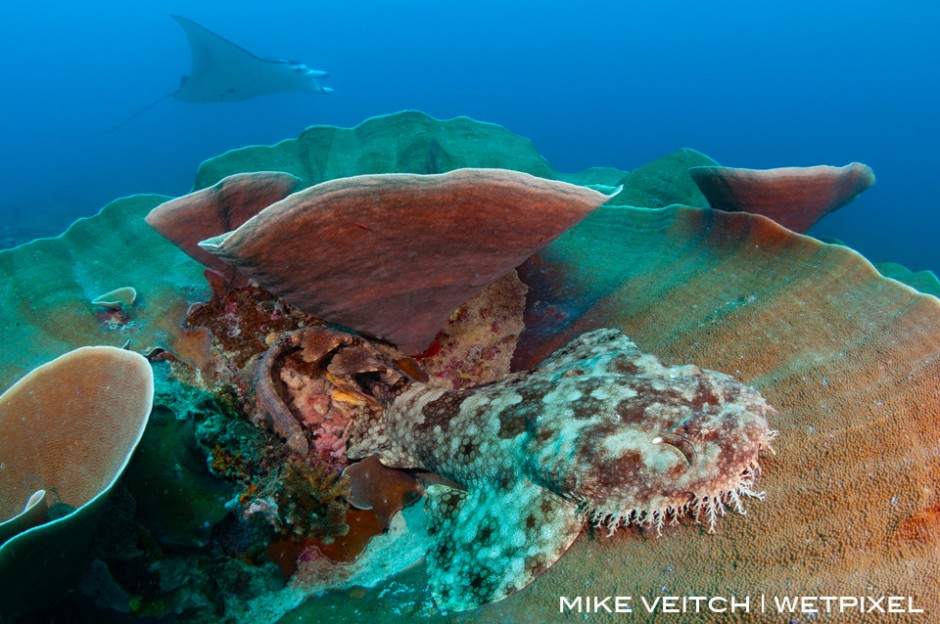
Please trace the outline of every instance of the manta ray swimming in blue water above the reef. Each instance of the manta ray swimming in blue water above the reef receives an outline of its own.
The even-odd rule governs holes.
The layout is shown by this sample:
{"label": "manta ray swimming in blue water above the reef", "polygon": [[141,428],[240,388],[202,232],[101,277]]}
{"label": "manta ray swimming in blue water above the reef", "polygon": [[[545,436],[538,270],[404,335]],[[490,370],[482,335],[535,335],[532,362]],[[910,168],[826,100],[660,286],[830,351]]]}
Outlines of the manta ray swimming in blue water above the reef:
{"label": "manta ray swimming in blue water above the reef", "polygon": [[189,39],[192,70],[180,86],[131,115],[122,128],[167,98],[182,102],[230,102],[282,92],[330,93],[320,84],[327,73],[297,61],[262,58],[205,26],[171,15]]}

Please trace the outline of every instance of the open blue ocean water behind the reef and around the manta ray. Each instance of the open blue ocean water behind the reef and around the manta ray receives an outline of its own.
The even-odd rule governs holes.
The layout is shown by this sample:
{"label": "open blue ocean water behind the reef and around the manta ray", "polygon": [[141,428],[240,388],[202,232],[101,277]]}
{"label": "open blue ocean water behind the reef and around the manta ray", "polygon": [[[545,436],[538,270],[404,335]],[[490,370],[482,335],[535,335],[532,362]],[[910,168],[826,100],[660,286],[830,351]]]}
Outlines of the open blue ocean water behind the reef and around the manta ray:
{"label": "open blue ocean water behind the reef and around the manta ray", "polygon": [[[328,95],[167,100],[178,13],[261,56],[330,72]],[[54,235],[132,193],[178,195],[202,160],[416,108],[531,138],[560,170],[693,147],[741,167],[873,167],[813,234],[940,271],[940,5],[689,0],[6,3],[0,239]]]}

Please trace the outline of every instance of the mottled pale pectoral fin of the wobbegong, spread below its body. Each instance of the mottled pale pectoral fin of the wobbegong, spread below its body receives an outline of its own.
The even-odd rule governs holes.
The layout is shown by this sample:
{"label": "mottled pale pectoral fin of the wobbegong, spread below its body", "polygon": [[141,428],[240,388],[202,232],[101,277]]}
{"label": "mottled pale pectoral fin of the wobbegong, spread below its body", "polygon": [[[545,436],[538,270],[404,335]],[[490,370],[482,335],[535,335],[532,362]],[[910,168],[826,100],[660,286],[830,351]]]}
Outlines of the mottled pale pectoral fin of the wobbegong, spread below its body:
{"label": "mottled pale pectoral fin of the wobbegong, spread below its body", "polygon": [[472,609],[531,583],[581,532],[576,509],[527,479],[469,491],[429,487],[427,564],[438,607]]}

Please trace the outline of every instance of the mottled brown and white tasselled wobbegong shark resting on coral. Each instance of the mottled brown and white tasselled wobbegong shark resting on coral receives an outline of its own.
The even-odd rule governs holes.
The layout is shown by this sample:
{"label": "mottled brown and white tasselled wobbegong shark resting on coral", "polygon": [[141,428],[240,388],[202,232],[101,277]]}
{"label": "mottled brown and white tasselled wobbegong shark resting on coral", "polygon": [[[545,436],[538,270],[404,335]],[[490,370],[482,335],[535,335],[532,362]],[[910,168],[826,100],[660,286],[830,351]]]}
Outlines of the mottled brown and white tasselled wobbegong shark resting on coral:
{"label": "mottled brown and white tasselled wobbegong shark resting on coral", "polygon": [[[323,341],[338,345],[324,358],[356,361],[344,351],[368,350],[359,340]],[[364,373],[342,368],[384,410],[351,446],[461,486],[427,490],[427,564],[442,610],[522,589],[586,522],[659,534],[689,516],[711,532],[728,507],[744,513],[744,498],[763,497],[754,480],[773,409],[727,375],[664,366],[619,330],[583,334],[534,369],[461,390],[412,381],[390,361],[380,371],[374,350],[361,359]]]}

